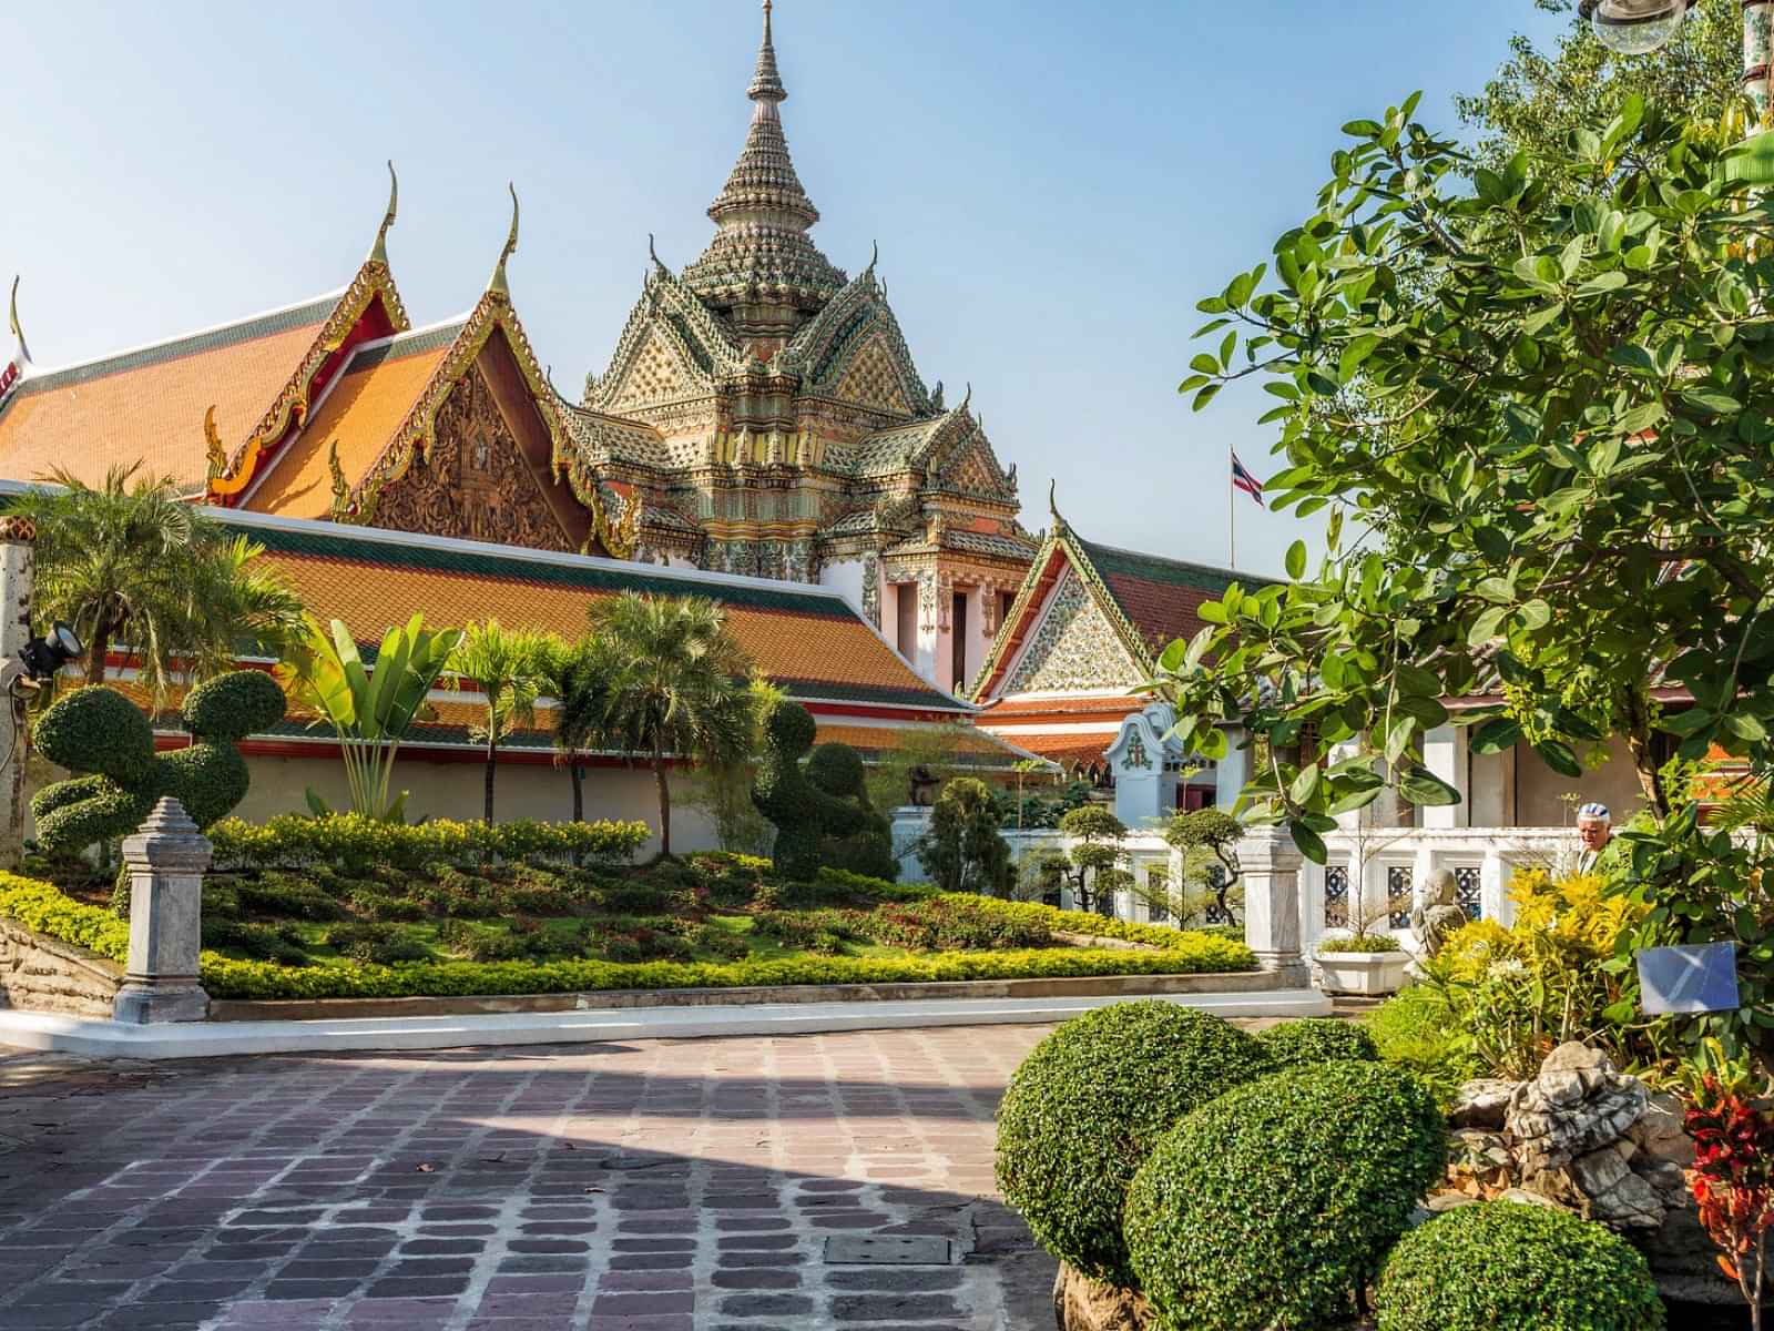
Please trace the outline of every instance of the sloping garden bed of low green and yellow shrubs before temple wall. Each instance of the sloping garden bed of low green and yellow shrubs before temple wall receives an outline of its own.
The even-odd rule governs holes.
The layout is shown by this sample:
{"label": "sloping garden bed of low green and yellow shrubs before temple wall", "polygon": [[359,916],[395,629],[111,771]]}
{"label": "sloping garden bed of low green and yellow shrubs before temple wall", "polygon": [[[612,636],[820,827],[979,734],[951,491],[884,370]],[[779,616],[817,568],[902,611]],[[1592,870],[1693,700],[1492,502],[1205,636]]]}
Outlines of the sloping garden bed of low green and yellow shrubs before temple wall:
{"label": "sloping garden bed of low green and yellow shrubs before temple wall", "polygon": [[[784,884],[766,861],[738,855],[635,868],[612,854],[619,838],[582,864],[571,862],[578,848],[569,857],[555,845],[488,843],[435,825],[318,845],[310,827],[277,838],[224,823],[213,839],[222,868],[204,884],[202,983],[215,999],[733,994],[1256,971],[1251,951],[1226,937],[830,870]],[[128,928],[110,884],[78,864],[34,868],[59,882],[0,880],[0,916],[121,960]]]}

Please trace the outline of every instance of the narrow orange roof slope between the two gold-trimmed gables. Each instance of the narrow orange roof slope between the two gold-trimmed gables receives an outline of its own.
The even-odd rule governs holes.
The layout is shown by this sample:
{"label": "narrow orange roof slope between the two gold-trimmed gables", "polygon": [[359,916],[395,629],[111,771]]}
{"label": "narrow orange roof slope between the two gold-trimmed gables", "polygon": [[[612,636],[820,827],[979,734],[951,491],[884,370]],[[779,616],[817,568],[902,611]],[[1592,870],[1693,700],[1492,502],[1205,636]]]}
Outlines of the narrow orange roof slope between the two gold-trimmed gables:
{"label": "narrow orange roof slope between the two gold-trimmed gables", "polygon": [[332,445],[353,484],[389,445],[461,332],[449,323],[358,348],[294,444],[250,492],[247,508],[289,518],[332,513]]}

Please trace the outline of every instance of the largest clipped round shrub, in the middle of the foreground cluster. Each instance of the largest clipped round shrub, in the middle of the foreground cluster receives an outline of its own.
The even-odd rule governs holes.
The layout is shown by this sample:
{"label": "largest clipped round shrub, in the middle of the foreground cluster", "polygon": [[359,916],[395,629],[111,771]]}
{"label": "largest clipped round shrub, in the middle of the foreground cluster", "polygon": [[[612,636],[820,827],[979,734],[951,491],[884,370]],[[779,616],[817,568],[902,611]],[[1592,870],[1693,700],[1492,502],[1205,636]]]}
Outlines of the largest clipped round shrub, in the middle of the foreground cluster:
{"label": "largest clipped round shrub, in the middle of the foreground cluster", "polygon": [[1446,1168],[1409,1072],[1315,1063],[1240,1086],[1167,1134],[1128,1189],[1125,1237],[1160,1326],[1336,1326]]}

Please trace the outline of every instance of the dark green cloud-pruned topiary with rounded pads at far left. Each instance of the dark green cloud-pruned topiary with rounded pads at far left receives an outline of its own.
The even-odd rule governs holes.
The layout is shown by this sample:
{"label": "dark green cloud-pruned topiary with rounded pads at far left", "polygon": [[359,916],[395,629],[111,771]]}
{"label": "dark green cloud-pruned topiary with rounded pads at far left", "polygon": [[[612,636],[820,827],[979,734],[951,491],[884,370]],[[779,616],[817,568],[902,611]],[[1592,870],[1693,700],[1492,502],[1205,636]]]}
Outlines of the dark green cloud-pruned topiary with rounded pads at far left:
{"label": "dark green cloud-pruned topiary with rounded pads at far left", "polygon": [[44,786],[30,802],[44,850],[83,850],[128,836],[161,795],[176,797],[199,827],[247,797],[252,777],[236,744],[284,717],[284,690],[263,671],[231,671],[184,697],[192,745],[154,752],[154,729],[115,689],[76,689],[37,719],[30,738],[51,763],[83,772]]}

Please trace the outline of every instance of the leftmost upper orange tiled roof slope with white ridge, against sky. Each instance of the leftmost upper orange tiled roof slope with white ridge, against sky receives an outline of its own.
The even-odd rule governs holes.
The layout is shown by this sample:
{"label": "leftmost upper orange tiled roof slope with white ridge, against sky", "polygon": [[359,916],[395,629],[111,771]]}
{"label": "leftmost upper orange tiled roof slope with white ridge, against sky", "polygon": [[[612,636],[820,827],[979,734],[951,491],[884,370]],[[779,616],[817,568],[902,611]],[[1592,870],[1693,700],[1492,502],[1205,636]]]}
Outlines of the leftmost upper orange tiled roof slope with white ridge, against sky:
{"label": "leftmost upper orange tiled roof slope with white ridge, against sky", "polygon": [[0,476],[62,467],[87,484],[142,460],[151,477],[199,490],[204,412],[245,438],[314,344],[339,295],[57,371],[34,371],[0,408]]}

